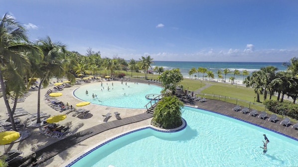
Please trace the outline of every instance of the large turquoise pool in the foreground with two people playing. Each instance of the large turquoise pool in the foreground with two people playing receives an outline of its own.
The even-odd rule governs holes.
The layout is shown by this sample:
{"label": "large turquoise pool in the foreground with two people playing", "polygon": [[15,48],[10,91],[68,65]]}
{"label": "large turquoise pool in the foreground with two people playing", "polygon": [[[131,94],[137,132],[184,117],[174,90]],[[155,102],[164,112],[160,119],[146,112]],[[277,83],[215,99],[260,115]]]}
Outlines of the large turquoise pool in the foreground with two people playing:
{"label": "large turquoise pool in the foreground with two people playing", "polygon": [[[213,112],[184,107],[177,133],[143,128],[99,145],[71,167],[298,166],[298,141]],[[270,143],[263,154],[263,134]],[[70,165],[69,165],[70,166]]]}

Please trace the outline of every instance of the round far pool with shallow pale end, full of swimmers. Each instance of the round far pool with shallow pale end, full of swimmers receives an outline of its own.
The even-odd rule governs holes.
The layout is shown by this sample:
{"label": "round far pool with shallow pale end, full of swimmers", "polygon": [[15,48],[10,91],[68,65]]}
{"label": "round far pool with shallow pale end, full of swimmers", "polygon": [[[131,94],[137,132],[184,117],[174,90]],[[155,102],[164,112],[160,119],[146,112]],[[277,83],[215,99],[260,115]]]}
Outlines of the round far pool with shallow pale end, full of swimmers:
{"label": "round far pool with shallow pale end, full of swimmers", "polygon": [[[97,82],[80,86],[74,91],[74,95],[83,101],[105,106],[146,108],[145,105],[150,101],[146,95],[160,94],[162,89],[162,87],[145,83]],[[97,96],[93,98],[92,94]]]}

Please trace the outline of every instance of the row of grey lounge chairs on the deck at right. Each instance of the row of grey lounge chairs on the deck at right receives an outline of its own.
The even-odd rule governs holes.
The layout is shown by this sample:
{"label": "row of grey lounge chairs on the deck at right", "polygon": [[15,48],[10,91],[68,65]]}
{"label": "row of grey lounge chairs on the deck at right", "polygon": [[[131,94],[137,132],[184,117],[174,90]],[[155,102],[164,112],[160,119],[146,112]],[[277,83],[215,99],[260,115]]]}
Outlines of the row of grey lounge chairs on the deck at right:
{"label": "row of grey lounge chairs on the deck at right", "polygon": [[[248,107],[244,107],[243,109],[241,109],[240,105],[236,105],[234,108],[232,108],[232,110],[241,111],[244,114],[249,112]],[[257,114],[258,114],[258,111],[256,109],[253,109],[251,112],[249,112],[249,115],[251,116],[256,116]],[[278,116],[276,114],[272,114],[270,115],[270,117],[268,117],[265,111],[261,111],[260,114],[258,115],[258,118],[261,118],[264,120],[268,118],[268,121],[271,121],[274,123],[278,120]],[[291,123],[290,118],[286,117],[281,121],[280,125],[285,125],[286,127],[288,127],[290,123]],[[297,124],[293,125],[292,128],[298,129],[298,122]]]}

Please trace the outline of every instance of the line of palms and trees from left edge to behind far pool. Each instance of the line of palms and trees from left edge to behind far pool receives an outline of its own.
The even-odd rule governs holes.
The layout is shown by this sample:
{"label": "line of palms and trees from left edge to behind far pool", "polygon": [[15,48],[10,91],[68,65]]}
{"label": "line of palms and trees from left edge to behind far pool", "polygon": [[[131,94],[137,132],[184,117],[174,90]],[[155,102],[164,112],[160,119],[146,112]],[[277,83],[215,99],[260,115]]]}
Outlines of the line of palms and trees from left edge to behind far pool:
{"label": "line of palms and trees from left edge to behind far pool", "polygon": [[[40,80],[37,95],[37,123],[40,123],[40,89],[49,85],[52,78],[66,77],[71,83],[80,75],[98,75],[105,70],[105,75],[115,75],[128,69],[133,72],[144,71],[147,79],[148,69],[152,68],[152,58],[142,56],[138,61],[129,62],[119,58],[102,58],[101,53],[92,48],[86,55],[68,51],[66,44],[54,42],[49,36],[29,41],[26,29],[8,13],[0,18],[0,85],[3,100],[7,108],[13,130],[13,113],[16,102],[10,106],[9,100],[17,101],[30,87],[34,78]],[[156,69],[158,73],[162,69]],[[131,73],[131,75],[132,75]]]}

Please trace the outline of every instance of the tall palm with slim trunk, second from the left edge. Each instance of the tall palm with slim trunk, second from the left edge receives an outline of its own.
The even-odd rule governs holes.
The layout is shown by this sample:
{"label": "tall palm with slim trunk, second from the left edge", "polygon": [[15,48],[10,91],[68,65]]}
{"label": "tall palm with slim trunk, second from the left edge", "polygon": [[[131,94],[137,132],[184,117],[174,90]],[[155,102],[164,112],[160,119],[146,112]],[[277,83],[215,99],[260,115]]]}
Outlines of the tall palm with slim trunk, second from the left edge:
{"label": "tall palm with slim trunk, second from the left edge", "polygon": [[62,77],[65,74],[63,63],[65,63],[65,45],[53,42],[49,36],[40,38],[36,45],[41,49],[41,60],[35,67],[36,77],[40,78],[37,95],[37,123],[40,123],[40,88],[46,87],[51,77]]}

